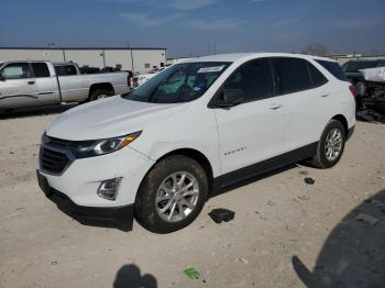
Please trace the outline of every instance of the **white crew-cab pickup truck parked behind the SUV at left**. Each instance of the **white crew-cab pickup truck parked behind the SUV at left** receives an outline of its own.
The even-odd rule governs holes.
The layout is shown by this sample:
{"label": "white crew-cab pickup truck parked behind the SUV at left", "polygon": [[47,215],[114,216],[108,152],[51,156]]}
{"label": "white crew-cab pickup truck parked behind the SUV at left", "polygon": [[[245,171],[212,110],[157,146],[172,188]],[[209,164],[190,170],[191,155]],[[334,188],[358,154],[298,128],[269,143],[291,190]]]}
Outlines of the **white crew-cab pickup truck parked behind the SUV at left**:
{"label": "white crew-cab pickup truck parked behind the SUV at left", "polygon": [[85,102],[130,90],[125,71],[80,75],[75,63],[0,62],[0,110]]}

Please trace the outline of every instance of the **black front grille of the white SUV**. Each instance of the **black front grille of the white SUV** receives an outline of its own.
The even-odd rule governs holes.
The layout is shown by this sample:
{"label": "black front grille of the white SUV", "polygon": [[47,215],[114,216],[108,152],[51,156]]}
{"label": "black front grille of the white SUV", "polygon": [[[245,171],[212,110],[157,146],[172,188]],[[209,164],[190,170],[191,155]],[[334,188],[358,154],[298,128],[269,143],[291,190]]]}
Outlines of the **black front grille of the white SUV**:
{"label": "black front grille of the white SUV", "polygon": [[61,174],[69,164],[69,158],[63,152],[41,147],[40,165],[44,171]]}

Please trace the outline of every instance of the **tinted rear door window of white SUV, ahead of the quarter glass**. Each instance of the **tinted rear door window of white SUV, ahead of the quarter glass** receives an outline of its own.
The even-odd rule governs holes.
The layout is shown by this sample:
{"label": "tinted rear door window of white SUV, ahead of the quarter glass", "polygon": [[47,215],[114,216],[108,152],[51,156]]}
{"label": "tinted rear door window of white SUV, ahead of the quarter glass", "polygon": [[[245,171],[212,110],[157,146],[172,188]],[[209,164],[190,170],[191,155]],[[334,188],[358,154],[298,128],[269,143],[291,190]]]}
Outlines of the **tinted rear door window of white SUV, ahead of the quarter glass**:
{"label": "tinted rear door window of white SUV, ahead of the quarter glass", "polygon": [[278,82],[278,93],[293,93],[312,87],[307,60],[272,58]]}

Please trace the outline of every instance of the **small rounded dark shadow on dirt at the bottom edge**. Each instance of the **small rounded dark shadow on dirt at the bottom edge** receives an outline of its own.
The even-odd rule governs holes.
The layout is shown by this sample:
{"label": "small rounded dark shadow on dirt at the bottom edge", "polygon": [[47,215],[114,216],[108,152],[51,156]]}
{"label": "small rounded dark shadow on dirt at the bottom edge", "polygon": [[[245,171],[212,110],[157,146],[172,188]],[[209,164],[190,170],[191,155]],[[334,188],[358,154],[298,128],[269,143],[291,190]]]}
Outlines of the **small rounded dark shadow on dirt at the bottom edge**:
{"label": "small rounded dark shadow on dirt at the bottom edge", "polygon": [[141,275],[141,269],[134,264],[122,266],[113,281],[113,288],[156,288],[156,278],[151,274]]}

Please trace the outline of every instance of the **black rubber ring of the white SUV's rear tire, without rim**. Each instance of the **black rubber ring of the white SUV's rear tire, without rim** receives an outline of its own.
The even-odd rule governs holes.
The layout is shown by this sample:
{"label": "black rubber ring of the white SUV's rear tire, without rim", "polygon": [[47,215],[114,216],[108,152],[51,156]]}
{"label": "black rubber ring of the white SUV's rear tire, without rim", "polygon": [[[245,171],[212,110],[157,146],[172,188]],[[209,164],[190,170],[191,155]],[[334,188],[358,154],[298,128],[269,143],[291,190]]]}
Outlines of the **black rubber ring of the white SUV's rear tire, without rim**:
{"label": "black rubber ring of the white SUV's rear tire, without rim", "polygon": [[[326,139],[327,139],[328,134],[333,129],[338,129],[341,131],[342,148],[341,148],[340,155],[334,160],[329,160],[326,156],[324,144],[326,144]],[[322,132],[320,142],[318,145],[318,152],[317,152],[318,159],[324,168],[333,167],[341,159],[341,156],[342,156],[342,154],[344,152],[344,147],[345,147],[345,141],[346,141],[346,133],[345,133],[345,130],[344,130],[342,123],[337,121],[337,120],[330,121]]]}

